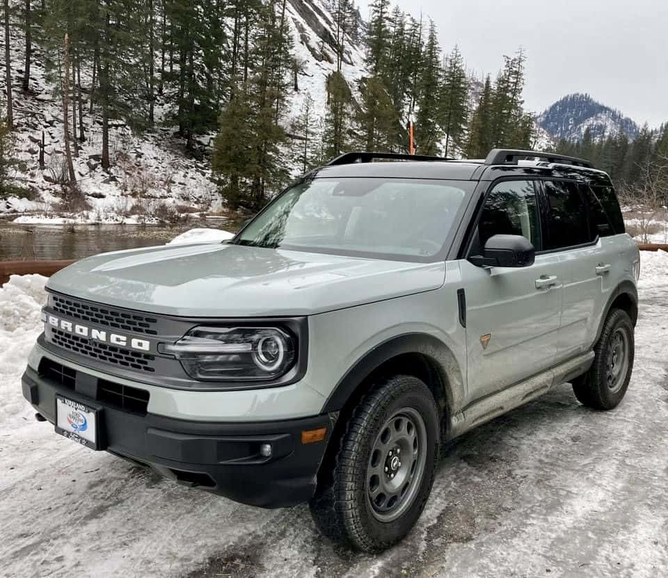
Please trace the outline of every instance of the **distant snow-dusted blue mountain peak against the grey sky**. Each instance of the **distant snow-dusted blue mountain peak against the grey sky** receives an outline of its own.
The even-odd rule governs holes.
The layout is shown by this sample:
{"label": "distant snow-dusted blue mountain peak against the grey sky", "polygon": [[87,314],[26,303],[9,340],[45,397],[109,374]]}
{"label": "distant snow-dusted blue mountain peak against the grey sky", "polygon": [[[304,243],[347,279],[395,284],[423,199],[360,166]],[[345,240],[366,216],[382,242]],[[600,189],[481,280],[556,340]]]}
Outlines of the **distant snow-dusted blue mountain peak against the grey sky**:
{"label": "distant snow-dusted blue mountain peak against the grey sky", "polygon": [[557,140],[581,141],[589,129],[591,137],[626,134],[637,136],[638,125],[621,112],[596,102],[589,95],[568,95],[536,117],[537,124]]}

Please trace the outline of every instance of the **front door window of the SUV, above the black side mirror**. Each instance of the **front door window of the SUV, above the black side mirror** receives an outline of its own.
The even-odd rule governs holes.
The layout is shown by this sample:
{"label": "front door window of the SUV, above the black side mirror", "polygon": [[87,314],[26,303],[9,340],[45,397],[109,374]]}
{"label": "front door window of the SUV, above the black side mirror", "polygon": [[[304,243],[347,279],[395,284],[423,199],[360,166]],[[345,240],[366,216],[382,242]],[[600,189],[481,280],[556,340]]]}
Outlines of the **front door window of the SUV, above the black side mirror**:
{"label": "front door window of the SUV, above the black side mirror", "polygon": [[521,235],[541,250],[541,231],[533,181],[503,181],[487,195],[478,223],[479,248],[493,235]]}

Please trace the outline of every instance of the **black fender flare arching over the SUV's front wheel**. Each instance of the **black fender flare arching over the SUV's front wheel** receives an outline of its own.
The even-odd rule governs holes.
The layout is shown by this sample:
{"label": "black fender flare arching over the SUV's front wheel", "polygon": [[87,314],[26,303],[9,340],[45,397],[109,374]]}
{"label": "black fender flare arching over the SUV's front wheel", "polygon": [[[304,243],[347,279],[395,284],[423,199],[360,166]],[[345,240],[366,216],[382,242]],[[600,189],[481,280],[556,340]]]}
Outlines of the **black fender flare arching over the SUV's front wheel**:
{"label": "black fender flare arching over the SUV's front wheel", "polygon": [[407,333],[391,337],[369,350],[339,380],[325,402],[322,412],[342,410],[359,385],[373,371],[397,355],[405,353],[420,353],[429,359],[438,372],[445,392],[446,410],[450,413],[454,403],[463,399],[461,369],[450,348],[440,339],[427,333]]}

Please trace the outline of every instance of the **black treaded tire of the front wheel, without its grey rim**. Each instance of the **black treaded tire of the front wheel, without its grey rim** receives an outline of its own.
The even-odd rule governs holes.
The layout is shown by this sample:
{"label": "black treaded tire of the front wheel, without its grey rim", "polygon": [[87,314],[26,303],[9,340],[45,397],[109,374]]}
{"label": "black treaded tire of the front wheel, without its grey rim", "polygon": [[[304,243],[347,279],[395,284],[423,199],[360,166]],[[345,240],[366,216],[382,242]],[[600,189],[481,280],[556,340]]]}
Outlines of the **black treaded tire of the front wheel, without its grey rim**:
{"label": "black treaded tire of the front wheel, without its grey rim", "polygon": [[[417,412],[425,426],[426,444],[420,448],[426,459],[421,478],[415,481],[414,497],[404,506],[406,511],[391,522],[382,522],[367,497],[367,467],[372,464],[381,429],[385,431],[387,420],[406,408]],[[309,503],[321,533],[363,552],[379,552],[404,538],[422,514],[434,483],[439,432],[434,396],[420,379],[397,375],[377,383],[352,412],[338,439],[330,442],[337,445],[328,452]]]}

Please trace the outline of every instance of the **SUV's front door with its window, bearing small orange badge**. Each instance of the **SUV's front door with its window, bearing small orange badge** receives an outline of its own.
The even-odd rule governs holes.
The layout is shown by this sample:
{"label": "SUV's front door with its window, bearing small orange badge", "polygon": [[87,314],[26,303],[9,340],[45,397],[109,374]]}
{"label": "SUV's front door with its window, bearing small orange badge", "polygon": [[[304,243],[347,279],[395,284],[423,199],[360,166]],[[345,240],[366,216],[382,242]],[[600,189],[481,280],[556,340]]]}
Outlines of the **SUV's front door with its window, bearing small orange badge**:
{"label": "SUV's front door with its window, bearing small orange badge", "polygon": [[[494,234],[519,234],[542,250],[537,184],[492,185],[468,254]],[[532,266],[482,268],[460,262],[466,292],[468,403],[517,383],[555,362],[562,310],[558,254],[536,255]]]}

